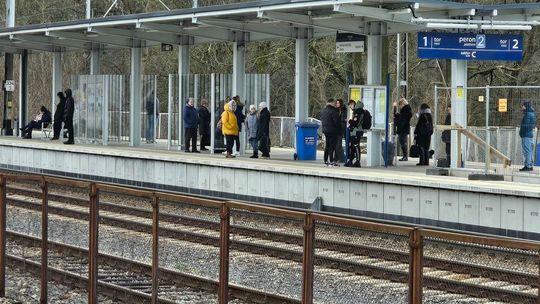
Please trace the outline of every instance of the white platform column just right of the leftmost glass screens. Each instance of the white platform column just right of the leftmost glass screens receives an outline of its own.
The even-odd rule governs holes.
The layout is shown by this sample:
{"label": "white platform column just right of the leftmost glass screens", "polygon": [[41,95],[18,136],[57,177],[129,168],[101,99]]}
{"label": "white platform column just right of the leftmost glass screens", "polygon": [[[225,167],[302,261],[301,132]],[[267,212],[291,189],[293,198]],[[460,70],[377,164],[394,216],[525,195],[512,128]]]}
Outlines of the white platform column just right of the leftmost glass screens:
{"label": "white platform column just right of the leftmost glass screens", "polygon": [[142,50],[131,48],[131,75],[129,86],[129,145],[137,147],[141,144],[141,65]]}

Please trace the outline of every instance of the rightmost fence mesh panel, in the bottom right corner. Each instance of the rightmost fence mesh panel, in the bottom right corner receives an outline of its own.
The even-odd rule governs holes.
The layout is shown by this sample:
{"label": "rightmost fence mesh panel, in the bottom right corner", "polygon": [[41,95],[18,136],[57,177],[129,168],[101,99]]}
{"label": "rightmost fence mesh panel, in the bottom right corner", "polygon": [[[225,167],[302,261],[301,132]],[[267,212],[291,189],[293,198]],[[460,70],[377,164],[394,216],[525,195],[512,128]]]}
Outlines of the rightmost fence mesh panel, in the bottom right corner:
{"label": "rightmost fence mesh panel, in the bottom right corner", "polygon": [[424,303],[535,303],[538,252],[424,238]]}

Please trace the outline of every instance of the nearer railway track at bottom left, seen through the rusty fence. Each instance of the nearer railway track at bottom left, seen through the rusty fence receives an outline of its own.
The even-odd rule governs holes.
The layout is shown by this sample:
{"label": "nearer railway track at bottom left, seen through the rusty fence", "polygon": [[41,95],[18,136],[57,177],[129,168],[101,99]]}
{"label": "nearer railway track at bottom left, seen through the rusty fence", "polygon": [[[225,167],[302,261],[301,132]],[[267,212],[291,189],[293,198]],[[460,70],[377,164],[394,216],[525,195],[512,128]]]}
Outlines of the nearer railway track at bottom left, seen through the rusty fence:
{"label": "nearer railway track at bottom left, seen through the rusty fence", "polygon": [[[41,241],[39,238],[8,231],[8,248],[11,251],[37,253],[8,253],[8,263],[39,275]],[[84,248],[49,241],[49,275],[59,282],[68,281],[80,288],[87,287],[88,251]],[[20,247],[25,247],[21,249]],[[150,265],[124,259],[114,255],[99,254],[98,288],[101,294],[125,303],[151,303],[152,267]],[[159,302],[177,303],[186,294],[200,295],[217,301],[219,283],[169,269],[160,269]],[[231,284],[230,294],[237,299],[249,299],[241,303],[300,303],[295,299],[252,290]]]}

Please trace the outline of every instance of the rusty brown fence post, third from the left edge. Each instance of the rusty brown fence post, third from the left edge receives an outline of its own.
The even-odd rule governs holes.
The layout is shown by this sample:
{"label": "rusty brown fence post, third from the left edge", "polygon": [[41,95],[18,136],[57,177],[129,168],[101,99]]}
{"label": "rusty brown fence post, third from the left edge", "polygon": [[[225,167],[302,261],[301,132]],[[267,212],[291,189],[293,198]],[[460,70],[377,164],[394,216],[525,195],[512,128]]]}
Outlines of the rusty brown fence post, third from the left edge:
{"label": "rusty brown fence post, third from the left edge", "polygon": [[88,240],[88,303],[97,304],[99,191],[96,183],[90,184],[90,216]]}

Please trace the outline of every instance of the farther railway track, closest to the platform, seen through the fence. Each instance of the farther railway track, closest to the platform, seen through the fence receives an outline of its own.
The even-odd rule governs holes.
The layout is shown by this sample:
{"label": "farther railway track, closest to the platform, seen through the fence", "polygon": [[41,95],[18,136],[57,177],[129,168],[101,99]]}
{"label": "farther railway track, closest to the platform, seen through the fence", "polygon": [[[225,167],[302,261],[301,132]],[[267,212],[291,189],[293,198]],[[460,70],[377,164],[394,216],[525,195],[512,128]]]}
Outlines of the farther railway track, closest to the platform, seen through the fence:
{"label": "farther railway track, closest to the platform, seen through the fence", "polygon": [[[41,193],[21,187],[8,188],[10,206],[40,210]],[[88,201],[49,193],[49,211],[61,216],[87,219]],[[151,233],[151,211],[100,202],[100,223],[141,233]],[[231,225],[231,249],[253,254],[302,260],[302,236],[265,229]],[[210,246],[219,244],[219,223],[201,218],[160,214],[160,236]],[[367,275],[393,282],[408,281],[409,254],[406,251],[331,240],[317,242],[315,265],[343,272]],[[425,286],[447,292],[489,298],[510,303],[535,303],[538,275],[475,263],[463,263],[426,256]]]}

